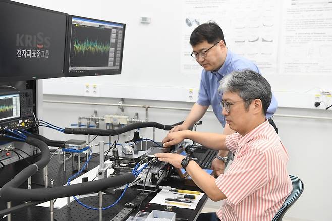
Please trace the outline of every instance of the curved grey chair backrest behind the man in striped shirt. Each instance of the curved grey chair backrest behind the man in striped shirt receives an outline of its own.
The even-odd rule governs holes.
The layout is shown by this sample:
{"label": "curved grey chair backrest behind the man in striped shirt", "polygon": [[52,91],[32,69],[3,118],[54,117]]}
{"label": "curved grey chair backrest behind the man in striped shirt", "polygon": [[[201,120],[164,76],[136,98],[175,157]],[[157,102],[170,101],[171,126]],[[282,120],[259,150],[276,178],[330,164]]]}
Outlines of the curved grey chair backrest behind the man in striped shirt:
{"label": "curved grey chair backrest behind the man in striped shirt", "polygon": [[300,180],[300,178],[298,178],[294,175],[289,175],[289,176],[292,180],[293,190],[292,190],[291,194],[287,197],[287,199],[285,200],[284,204],[279,209],[279,211],[276,212],[272,221],[282,220],[286,211],[295,203],[295,201],[301,196],[301,194],[303,192],[304,185],[303,185],[302,180]]}

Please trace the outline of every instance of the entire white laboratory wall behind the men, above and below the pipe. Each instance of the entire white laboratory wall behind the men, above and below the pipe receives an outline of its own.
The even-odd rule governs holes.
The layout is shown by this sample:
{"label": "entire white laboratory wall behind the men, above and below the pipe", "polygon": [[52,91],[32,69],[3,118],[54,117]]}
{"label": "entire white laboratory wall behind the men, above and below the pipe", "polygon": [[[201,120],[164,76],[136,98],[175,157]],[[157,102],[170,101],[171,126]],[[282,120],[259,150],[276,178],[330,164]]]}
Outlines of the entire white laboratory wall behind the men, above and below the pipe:
{"label": "entire white laboratory wall behind the men, above and below the pipe", "polygon": [[[125,50],[123,60],[123,74],[119,76],[99,76],[94,78],[56,79],[45,80],[46,90],[56,89],[57,92],[45,94],[45,100],[69,100],[86,102],[117,103],[114,98],[89,98],[82,96],[57,96],[49,94],[78,93],[84,83],[117,84],[121,94],[132,98],[137,92],[135,86],[144,85],[145,88],[153,86],[162,87],[162,93],[172,92],[180,87],[197,87],[199,73],[190,76],[180,74],[180,25],[179,20],[180,1],[20,1],[44,8],[58,10],[73,15],[100,18],[104,20],[123,22],[127,24],[125,36]],[[120,10],[113,11],[114,7]],[[152,22],[149,25],[139,23],[140,16],[149,16]],[[272,88],[286,93],[277,96],[281,108],[277,114],[311,115],[332,117],[331,112],[322,110],[289,108],[308,107],[312,104],[311,98],[301,98],[301,94],[315,87],[331,89],[331,76],[267,76]],[[93,82],[91,82],[93,81]],[[59,87],[63,85],[64,87]],[[72,85],[72,87],[71,87]],[[76,86],[75,86],[76,85]],[[123,86],[123,85],[130,85]],[[176,85],[176,88],[172,88]],[[109,85],[108,85],[109,86]],[[112,85],[110,85],[112,86]],[[76,91],[70,90],[74,88]],[[168,91],[169,89],[169,91]],[[83,91],[83,89],[82,89]],[[154,89],[153,91],[157,91]],[[161,93],[160,93],[161,94]],[[305,93],[304,93],[305,94]],[[174,96],[176,96],[175,94]],[[161,95],[160,95],[161,96]],[[178,95],[183,96],[183,94]],[[298,98],[300,96],[300,98]],[[313,94],[309,94],[313,96]],[[192,104],[185,102],[151,101],[138,99],[125,99],[128,104],[153,105],[153,106],[178,106],[190,107]],[[167,100],[168,98],[165,98]],[[174,99],[169,99],[174,100]],[[180,99],[178,101],[183,101]],[[302,103],[306,101],[307,103]],[[286,104],[285,104],[286,103]],[[287,108],[283,108],[287,107]],[[84,106],[84,105],[60,105],[44,103],[42,118],[58,126],[69,126],[76,123],[78,116],[89,116],[93,110],[98,109],[99,116],[119,113],[116,107]],[[126,108],[125,113],[131,117],[139,112],[141,119],[145,118],[144,109]],[[162,111],[151,109],[149,120],[164,124],[172,124],[183,120],[187,113],[181,111]],[[298,202],[287,212],[285,217],[293,220],[332,220],[332,193],[330,183],[332,176],[330,171],[330,134],[332,121],[310,120],[298,118],[275,117],[275,122],[280,130],[280,137],[288,148],[290,155],[289,173],[299,176],[305,184],[305,190]],[[201,131],[220,132],[222,128],[212,113],[203,118]],[[161,140],[164,131],[156,131],[156,140]],[[45,129],[44,134],[50,139],[66,140],[72,136]],[[152,138],[151,129],[142,129],[141,134]],[[79,137],[79,136],[78,136]],[[75,138],[78,139],[76,136]],[[85,138],[81,136],[81,138]],[[121,142],[127,137],[121,137]]]}

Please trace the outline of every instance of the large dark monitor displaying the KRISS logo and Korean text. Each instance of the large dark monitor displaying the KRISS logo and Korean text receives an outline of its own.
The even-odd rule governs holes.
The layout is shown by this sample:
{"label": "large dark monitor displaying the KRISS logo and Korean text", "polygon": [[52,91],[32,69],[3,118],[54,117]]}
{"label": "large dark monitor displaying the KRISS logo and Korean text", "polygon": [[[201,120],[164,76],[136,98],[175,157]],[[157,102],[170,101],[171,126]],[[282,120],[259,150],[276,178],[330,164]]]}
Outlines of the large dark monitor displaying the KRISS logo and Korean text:
{"label": "large dark monitor displaying the KRISS logo and Korean text", "polygon": [[63,77],[67,16],[0,0],[0,81]]}

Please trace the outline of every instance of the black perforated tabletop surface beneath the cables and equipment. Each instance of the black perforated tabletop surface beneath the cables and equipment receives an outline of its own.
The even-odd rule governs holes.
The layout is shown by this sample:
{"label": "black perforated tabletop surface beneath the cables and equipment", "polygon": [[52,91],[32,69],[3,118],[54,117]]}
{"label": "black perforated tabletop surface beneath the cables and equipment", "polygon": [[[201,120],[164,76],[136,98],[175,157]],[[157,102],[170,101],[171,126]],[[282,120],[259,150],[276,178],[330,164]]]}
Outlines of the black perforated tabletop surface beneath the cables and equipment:
{"label": "black perforated tabletop surface beneath the cables and equipment", "polygon": [[[28,161],[33,163],[34,161],[38,161],[39,157],[29,158]],[[89,168],[92,169],[98,165],[99,157],[94,157],[89,162]],[[28,163],[25,160],[21,160],[19,162],[12,163],[7,165],[5,168],[0,169],[0,186],[3,186],[6,182],[8,182],[12,177],[15,176],[19,171],[25,168]],[[83,165],[81,163],[81,165]],[[62,186],[66,183],[67,178],[72,175],[72,163],[71,159],[66,161],[66,171],[63,171],[63,164],[59,164],[57,162],[56,156],[54,156],[48,164],[48,180],[51,178],[54,179],[54,186]],[[169,179],[165,181],[162,185],[170,185],[176,188],[184,189],[183,183],[178,180]],[[42,170],[32,176],[32,187],[31,188],[42,188],[43,185],[43,172]],[[21,185],[20,188],[26,188],[27,182]],[[199,190],[197,187],[188,187],[187,189]],[[127,202],[132,201],[141,191],[136,190],[136,188],[128,188],[122,199],[116,204],[114,207],[104,210],[102,212],[102,220],[110,220],[116,214],[118,214],[125,206]],[[152,210],[164,210],[163,205],[148,203],[156,193],[151,193],[149,196],[143,201],[140,211],[151,212]],[[108,206],[115,202],[118,197],[115,195],[105,194],[103,195],[103,206]],[[204,194],[203,198],[199,201],[197,208],[195,210],[192,209],[183,209],[177,208],[173,206],[173,212],[176,213],[177,218],[187,218],[190,220],[195,220],[200,213],[202,207],[204,206],[207,200],[207,196]],[[98,197],[86,197],[82,198],[81,201],[89,206],[98,207]],[[12,202],[12,206],[20,204],[19,202]],[[0,198],[0,210],[6,208],[6,202],[2,201]],[[137,213],[135,211],[131,215],[134,216]],[[98,220],[99,212],[96,210],[91,210],[82,207],[76,201],[71,203],[71,207],[67,206],[61,209],[54,209],[54,220]],[[12,214],[12,220],[27,220],[27,221],[39,221],[39,220],[50,220],[50,209],[39,206],[31,206],[27,208],[23,208],[22,210],[15,212]]]}

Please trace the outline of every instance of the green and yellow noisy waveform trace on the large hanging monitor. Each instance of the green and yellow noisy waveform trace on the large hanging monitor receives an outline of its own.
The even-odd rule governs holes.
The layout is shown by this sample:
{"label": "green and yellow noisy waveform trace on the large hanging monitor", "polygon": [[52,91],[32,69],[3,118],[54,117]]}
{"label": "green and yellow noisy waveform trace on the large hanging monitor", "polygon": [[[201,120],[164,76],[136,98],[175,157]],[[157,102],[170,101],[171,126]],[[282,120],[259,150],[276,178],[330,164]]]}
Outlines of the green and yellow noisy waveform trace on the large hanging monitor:
{"label": "green and yellow noisy waveform trace on the large hanging monitor", "polygon": [[78,39],[74,39],[74,52],[75,54],[108,54],[109,53],[109,42],[100,43],[98,38],[95,41],[89,40],[87,38],[83,42]]}

